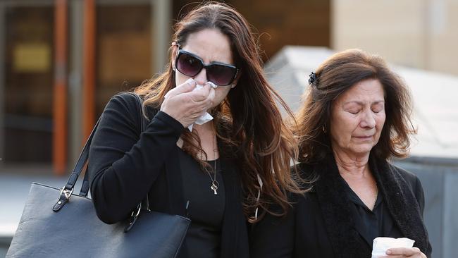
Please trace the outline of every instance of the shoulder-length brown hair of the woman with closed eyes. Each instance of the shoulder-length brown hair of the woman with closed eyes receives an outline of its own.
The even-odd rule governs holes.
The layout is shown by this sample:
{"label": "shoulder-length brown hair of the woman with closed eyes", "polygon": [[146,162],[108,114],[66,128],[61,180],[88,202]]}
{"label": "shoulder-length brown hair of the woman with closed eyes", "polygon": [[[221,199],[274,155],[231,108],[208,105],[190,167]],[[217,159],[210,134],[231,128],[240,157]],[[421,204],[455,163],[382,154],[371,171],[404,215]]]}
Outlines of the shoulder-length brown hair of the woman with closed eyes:
{"label": "shoulder-length brown hair of the woman with closed eyes", "polygon": [[416,133],[411,123],[411,94],[399,75],[380,56],[360,49],[348,49],[330,56],[315,72],[304,93],[297,114],[295,135],[299,139],[299,161],[315,163],[331,152],[331,106],[340,94],[361,80],[376,79],[385,92],[385,124],[380,139],[371,150],[378,159],[404,157],[409,152],[409,135]]}

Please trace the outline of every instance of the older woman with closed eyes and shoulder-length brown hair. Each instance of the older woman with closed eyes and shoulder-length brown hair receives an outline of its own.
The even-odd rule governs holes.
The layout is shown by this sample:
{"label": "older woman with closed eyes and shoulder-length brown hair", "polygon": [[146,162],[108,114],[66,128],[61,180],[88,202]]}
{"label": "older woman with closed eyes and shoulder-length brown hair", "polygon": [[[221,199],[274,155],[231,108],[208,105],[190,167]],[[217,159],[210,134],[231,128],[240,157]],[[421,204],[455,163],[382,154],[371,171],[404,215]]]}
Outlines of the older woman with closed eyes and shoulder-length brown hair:
{"label": "older woman with closed eyes and shoulder-length brown hair", "polygon": [[407,155],[414,133],[404,82],[380,57],[350,49],[330,56],[309,83],[295,169],[313,183],[294,212],[253,228],[252,257],[367,258],[379,236],[415,240],[388,257],[429,257],[420,180],[388,162]]}

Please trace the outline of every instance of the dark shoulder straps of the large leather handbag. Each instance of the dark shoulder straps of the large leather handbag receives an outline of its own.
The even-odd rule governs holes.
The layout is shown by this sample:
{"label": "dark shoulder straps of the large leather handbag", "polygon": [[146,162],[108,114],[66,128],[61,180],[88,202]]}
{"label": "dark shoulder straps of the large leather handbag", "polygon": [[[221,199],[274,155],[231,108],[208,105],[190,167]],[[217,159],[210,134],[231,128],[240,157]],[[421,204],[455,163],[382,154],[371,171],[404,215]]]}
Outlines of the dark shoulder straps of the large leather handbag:
{"label": "dark shoulder straps of the large leather handbag", "polygon": [[[128,93],[135,96],[135,98],[137,99],[137,105],[140,107],[140,111],[142,111],[142,99],[140,98],[140,96],[138,96],[137,94],[133,92],[128,92]],[[141,132],[140,132],[142,133],[145,127],[142,112],[140,113],[140,118],[142,118]],[[100,123],[100,118],[97,120],[97,123],[94,125],[94,128],[92,129],[91,134],[87,138],[85,147],[82,148],[82,152],[80,156],[78,157],[78,161],[75,164],[75,168],[73,168],[72,173],[70,173],[70,176],[68,177],[68,181],[66,185],[63,188],[61,188],[61,193],[58,198],[58,201],[56,202],[56,204],[54,204],[54,207],[52,208],[53,211],[59,211],[60,209],[62,209],[62,207],[68,202],[68,199],[70,199],[70,196],[73,193],[73,189],[75,188],[76,181],[80,177],[82,169],[87,164],[87,159],[89,158],[89,147],[91,146],[92,138],[94,137],[95,131],[97,130],[99,123]],[[87,192],[89,192],[89,179],[88,179],[88,173],[87,173],[87,168],[86,168],[85,178],[82,181],[80,195],[86,197]],[[141,204],[139,205],[141,207]]]}

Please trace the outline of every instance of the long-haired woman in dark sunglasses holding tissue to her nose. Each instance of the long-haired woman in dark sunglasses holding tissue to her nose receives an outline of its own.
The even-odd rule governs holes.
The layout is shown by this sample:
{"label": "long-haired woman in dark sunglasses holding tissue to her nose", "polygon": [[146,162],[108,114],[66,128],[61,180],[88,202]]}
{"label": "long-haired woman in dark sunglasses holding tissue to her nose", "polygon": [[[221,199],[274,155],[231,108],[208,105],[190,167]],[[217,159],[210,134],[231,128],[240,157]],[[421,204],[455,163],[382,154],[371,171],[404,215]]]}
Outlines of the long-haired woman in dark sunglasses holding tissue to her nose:
{"label": "long-haired woman in dark sunglasses holding tissue to her nose", "polygon": [[[148,208],[192,220],[180,257],[249,257],[247,221],[286,208],[295,153],[249,25],[233,8],[198,6],[176,24],[168,68],[107,104],[89,153],[97,215]],[[291,113],[290,113],[291,114]],[[213,118],[213,119],[211,119]],[[211,119],[209,121],[209,119]],[[186,205],[189,202],[189,205]]]}

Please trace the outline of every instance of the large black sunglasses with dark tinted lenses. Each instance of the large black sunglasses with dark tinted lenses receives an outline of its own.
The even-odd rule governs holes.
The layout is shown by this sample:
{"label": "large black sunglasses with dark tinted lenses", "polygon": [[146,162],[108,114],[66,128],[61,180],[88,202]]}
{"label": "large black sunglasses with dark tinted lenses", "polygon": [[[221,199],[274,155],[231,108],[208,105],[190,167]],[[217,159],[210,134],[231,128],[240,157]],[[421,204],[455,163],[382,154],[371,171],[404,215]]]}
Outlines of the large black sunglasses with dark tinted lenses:
{"label": "large black sunglasses with dark tinted lenses", "polygon": [[190,77],[198,75],[205,68],[206,80],[218,86],[230,85],[237,77],[239,71],[237,67],[226,63],[213,62],[206,65],[199,56],[182,49],[178,51],[175,66],[180,73]]}

